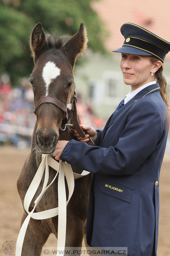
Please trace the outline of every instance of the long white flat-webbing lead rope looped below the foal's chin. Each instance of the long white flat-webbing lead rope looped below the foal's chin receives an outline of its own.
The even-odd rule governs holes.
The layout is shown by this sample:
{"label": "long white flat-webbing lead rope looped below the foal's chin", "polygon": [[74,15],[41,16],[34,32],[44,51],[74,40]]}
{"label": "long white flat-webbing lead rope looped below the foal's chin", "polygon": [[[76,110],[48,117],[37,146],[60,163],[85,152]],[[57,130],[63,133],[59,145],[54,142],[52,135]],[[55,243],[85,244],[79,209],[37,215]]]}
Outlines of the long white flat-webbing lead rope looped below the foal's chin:
{"label": "long white flat-webbing lead rope looped below the foal's chin", "polygon": [[[51,166],[54,170],[57,171],[55,177],[53,178],[52,182],[47,186],[48,179],[49,179],[49,168],[48,166]],[[29,212],[29,205],[39,187],[39,184],[41,182],[41,179],[43,177],[45,169],[45,178],[44,178],[44,184],[43,189],[40,193],[40,195],[35,200],[35,206],[32,209],[31,212]],[[50,185],[54,182],[57,175],[58,176],[58,207],[49,209],[46,211],[41,211],[38,213],[33,213],[35,210],[35,207],[39,203],[41,197],[45,193],[45,191],[50,187]],[[74,191],[74,179],[81,178],[85,175],[89,174],[88,171],[83,171],[82,174],[74,173],[71,165],[66,164],[62,161],[59,161],[59,163],[54,160],[52,157],[49,157],[47,154],[42,154],[42,161],[40,163],[40,166],[27,190],[27,193],[25,194],[24,198],[24,209],[28,213],[28,216],[25,218],[23,225],[20,229],[18,239],[16,241],[16,252],[15,256],[21,256],[22,253],[22,246],[24,242],[25,233],[28,227],[28,223],[30,218],[33,219],[48,219],[52,218],[56,215],[58,215],[58,242],[57,242],[57,249],[60,249],[64,251],[65,249],[65,240],[66,240],[66,207],[67,204],[70,201],[70,198]],[[65,181],[64,176],[66,177],[68,189],[69,189],[69,197],[66,201],[66,190],[65,190]],[[57,250],[57,256],[61,255],[61,251]]]}

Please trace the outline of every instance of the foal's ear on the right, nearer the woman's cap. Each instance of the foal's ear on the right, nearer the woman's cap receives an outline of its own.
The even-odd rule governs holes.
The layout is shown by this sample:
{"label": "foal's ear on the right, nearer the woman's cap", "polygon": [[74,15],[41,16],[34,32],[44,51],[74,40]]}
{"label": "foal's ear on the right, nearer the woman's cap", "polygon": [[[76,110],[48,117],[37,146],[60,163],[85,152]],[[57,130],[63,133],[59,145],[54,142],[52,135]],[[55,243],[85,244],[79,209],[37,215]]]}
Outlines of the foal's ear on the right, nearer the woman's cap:
{"label": "foal's ear on the right, nearer the woman's cap", "polygon": [[87,48],[87,41],[86,28],[81,23],[79,31],[63,46],[63,53],[69,58],[72,67],[74,67],[78,55],[82,55],[82,52]]}

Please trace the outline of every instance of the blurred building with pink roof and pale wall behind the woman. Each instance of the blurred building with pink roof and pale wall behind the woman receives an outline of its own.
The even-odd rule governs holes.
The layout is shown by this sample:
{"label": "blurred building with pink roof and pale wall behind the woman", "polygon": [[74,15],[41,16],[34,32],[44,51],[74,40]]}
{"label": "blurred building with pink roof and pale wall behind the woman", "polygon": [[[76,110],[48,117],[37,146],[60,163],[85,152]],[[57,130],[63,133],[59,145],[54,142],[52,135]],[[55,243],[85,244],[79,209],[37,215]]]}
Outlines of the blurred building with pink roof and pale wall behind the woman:
{"label": "blurred building with pink roof and pale wall behind the woman", "polygon": [[[170,41],[168,23],[170,2],[167,0],[161,3],[158,0],[101,0],[94,1],[92,7],[109,32],[108,38],[105,38],[105,47],[109,54],[103,56],[87,49],[83,65],[75,67],[75,83],[77,92],[82,94],[83,101],[87,102],[90,98],[94,112],[107,118],[130,91],[130,86],[123,82],[119,67],[121,54],[112,53],[112,50],[121,47],[124,42],[120,32],[121,25],[132,22]],[[170,84],[169,68],[170,53],[167,54],[164,62],[164,75]],[[170,93],[169,87],[167,90]]]}

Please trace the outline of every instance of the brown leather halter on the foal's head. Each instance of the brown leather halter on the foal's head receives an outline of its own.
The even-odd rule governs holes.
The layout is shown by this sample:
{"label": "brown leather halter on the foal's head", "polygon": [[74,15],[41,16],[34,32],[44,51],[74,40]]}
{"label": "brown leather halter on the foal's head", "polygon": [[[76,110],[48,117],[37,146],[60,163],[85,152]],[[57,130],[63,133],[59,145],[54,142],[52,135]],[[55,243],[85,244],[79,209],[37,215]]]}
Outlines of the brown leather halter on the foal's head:
{"label": "brown leather halter on the foal's head", "polygon": [[[76,107],[76,102],[77,102],[77,95],[76,92],[74,91],[74,95],[72,98],[71,103],[67,104],[67,107],[58,99],[49,97],[49,96],[44,96],[40,99],[38,99],[35,104],[34,104],[34,111],[33,113],[36,115],[36,110],[37,108],[43,104],[43,103],[52,103],[59,107],[63,112],[64,112],[64,117],[62,118],[62,124],[61,126],[65,126],[66,123],[69,121],[71,116],[73,115],[73,125],[70,125],[73,129],[76,129],[80,137],[84,138],[85,134],[80,127],[79,121],[78,121],[78,115],[77,115],[77,107]],[[69,125],[67,125],[69,126]],[[61,129],[63,130],[63,129]],[[90,138],[89,138],[90,139]],[[94,146],[94,142],[90,139],[90,141],[87,142],[88,145]]]}

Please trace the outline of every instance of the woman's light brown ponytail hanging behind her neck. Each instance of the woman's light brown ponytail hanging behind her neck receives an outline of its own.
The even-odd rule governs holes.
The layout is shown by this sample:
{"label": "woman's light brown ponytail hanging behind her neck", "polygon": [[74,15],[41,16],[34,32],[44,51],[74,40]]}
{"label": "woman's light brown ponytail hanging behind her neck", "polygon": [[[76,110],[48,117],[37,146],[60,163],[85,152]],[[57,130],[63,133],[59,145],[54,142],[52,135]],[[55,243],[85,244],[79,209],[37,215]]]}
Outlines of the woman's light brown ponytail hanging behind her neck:
{"label": "woman's light brown ponytail hanging behind her neck", "polygon": [[[158,59],[154,56],[150,56],[150,60],[152,64],[158,61]],[[165,102],[166,106],[169,107],[169,95],[167,93],[167,80],[163,75],[163,64],[155,73],[156,82],[159,83],[160,86],[160,95]]]}

